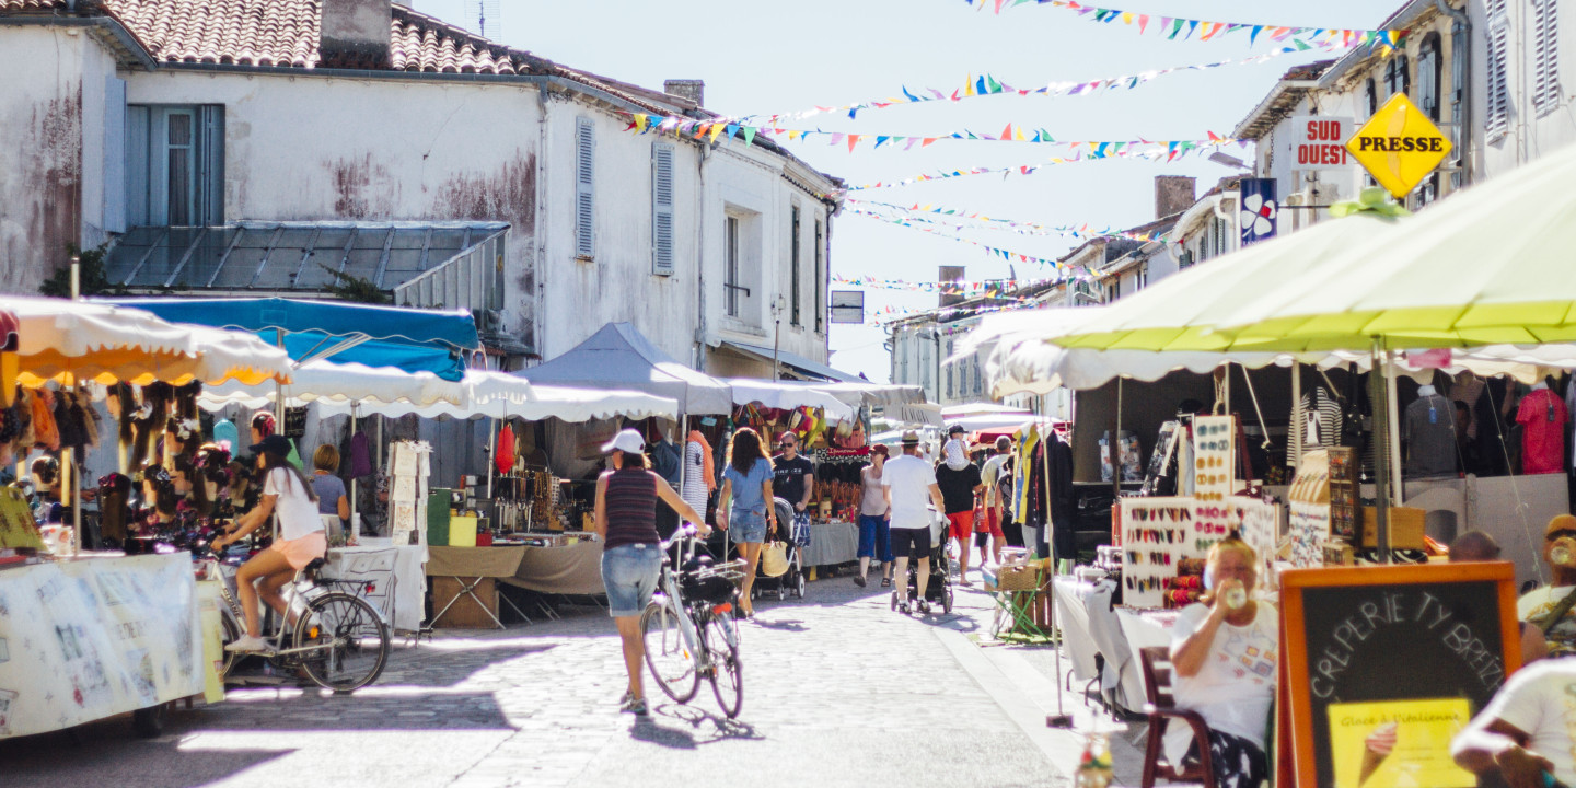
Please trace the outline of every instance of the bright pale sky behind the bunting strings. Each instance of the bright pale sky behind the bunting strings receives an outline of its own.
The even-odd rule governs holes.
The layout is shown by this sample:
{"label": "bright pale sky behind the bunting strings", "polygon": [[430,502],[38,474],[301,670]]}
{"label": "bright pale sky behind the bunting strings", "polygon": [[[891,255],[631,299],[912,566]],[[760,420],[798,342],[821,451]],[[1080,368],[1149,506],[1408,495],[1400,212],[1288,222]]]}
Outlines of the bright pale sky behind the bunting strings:
{"label": "bright pale sky behind the bunting strings", "polygon": [[[987,0],[988,2],[988,0]],[[1116,0],[1124,11],[1220,22],[1368,28],[1401,0]],[[414,0],[418,11],[476,30],[471,0]],[[1247,58],[1278,44],[1248,46],[1245,30],[1212,41],[1166,41],[1150,27],[1095,22],[1054,6],[1023,5],[1001,16],[965,0],[797,0],[760,6],[697,0],[503,0],[501,28],[487,36],[571,68],[660,90],[665,79],[706,80],[706,107],[723,115],[786,113],[938,88],[952,93],[969,74],[993,74],[1015,88],[1095,80],[1149,69]],[[1157,24],[1150,22],[1152,25]],[[1180,38],[1180,36],[1179,36]],[[1043,128],[1072,140],[1204,139],[1231,134],[1288,68],[1321,52],[1158,77],[1133,90],[1089,96],[990,96],[960,102],[864,110],[857,120],[818,115],[785,128],[856,134],[942,136],[972,129],[998,134],[1007,123]],[[829,147],[829,137],[786,143],[799,158],[853,184],[938,170],[1039,164],[1067,156],[1065,145],[938,142],[903,151],[890,145]],[[742,142],[734,142],[742,143]],[[1231,150],[1237,158],[1247,151]],[[1193,175],[1199,192],[1232,170],[1202,156],[1173,164],[1103,159],[1046,167],[1034,175],[980,175],[854,192],[901,205],[936,203],[993,217],[1046,225],[1132,227],[1154,219],[1154,177]],[[1076,244],[1061,236],[966,230],[971,240],[1054,258]],[[941,265],[968,266],[969,279],[1009,276],[1007,262],[985,251],[908,227],[843,213],[832,224],[832,276],[935,281]],[[1054,276],[1017,263],[1020,279]],[[834,290],[846,287],[834,285]],[[935,295],[870,290],[867,312],[925,309]],[[886,334],[878,326],[832,326],[832,366],[889,378]]]}

